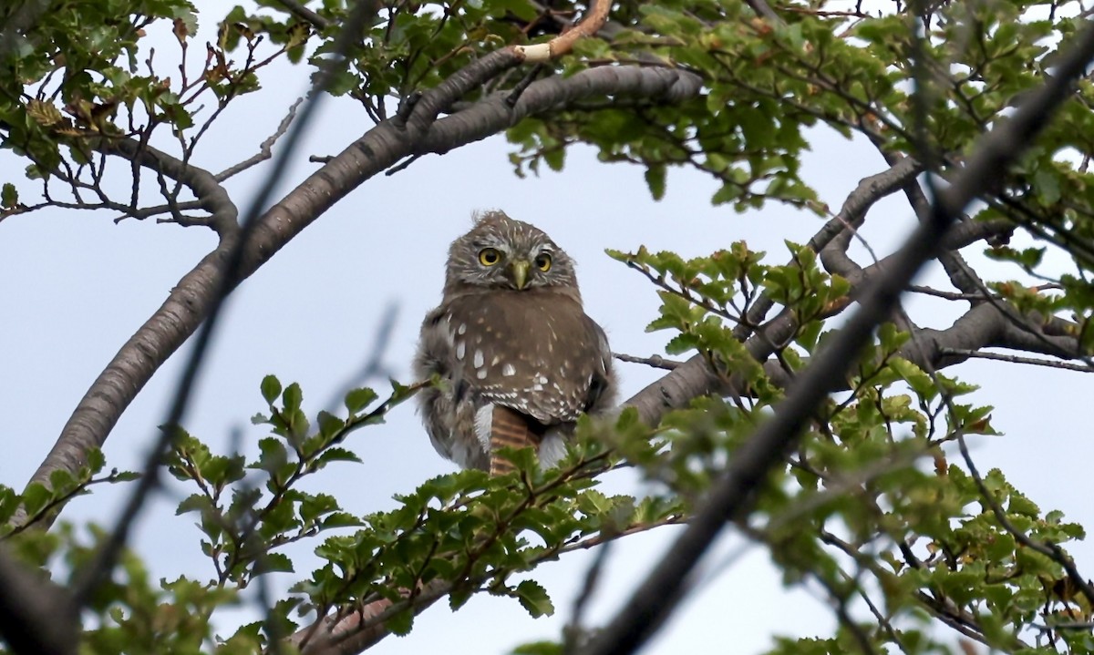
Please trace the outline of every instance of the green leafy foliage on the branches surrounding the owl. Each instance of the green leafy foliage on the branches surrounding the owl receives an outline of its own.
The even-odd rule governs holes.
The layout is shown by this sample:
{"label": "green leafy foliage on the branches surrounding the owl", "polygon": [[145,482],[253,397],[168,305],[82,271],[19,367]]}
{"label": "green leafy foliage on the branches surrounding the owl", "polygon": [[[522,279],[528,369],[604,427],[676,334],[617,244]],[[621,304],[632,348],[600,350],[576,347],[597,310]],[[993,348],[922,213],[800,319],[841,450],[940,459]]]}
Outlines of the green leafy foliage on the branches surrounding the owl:
{"label": "green leafy foliage on the branches surrounding the owl", "polygon": [[[392,125],[398,102],[502,46],[550,38],[583,9],[529,0],[385,2],[345,61],[331,65],[352,4],[341,0],[307,3],[306,20],[276,0],[236,7],[197,61],[190,49],[199,16],[186,0],[55,4],[33,30],[5,34],[0,48],[0,144],[27,163],[26,179],[0,180],[0,219],[58,207],[199,223],[187,212],[202,208],[202,199],[179,182],[183,175],[158,171],[156,203],[147,201],[151,185],[140,176],[154,166],[126,154],[128,144],[170,149],[183,168],[200,165],[198,144],[209,126],[235,98],[260,92],[267,67],[281,58],[329,69],[328,93],[349,95],[374,122]],[[515,172],[560,169],[567,149],[586,143],[604,162],[642,166],[654,199],[664,197],[668,171],[683,167],[717,182],[713,203],[744,212],[777,201],[830,217],[800,164],[811,130],[833,129],[868,140],[891,164],[919,159],[930,167],[931,190],[1051,72],[1058,44],[1082,22],[1076,2],[1036,0],[880,13],[791,0],[771,4],[778,20],[757,7],[766,4],[614,3],[610,28],[533,77],[639,65],[695,73],[703,93],[673,105],[643,97],[559,102],[508,131]],[[153,60],[141,49],[152,31],[170,32],[177,44],[170,65],[163,52]],[[519,95],[524,72],[509,71],[461,102]],[[986,233],[998,237],[989,242],[990,257],[1043,283],[977,279],[961,289],[975,297],[959,299],[1004,306],[1043,328],[1040,342],[1055,348],[1049,338],[1066,337],[1074,344],[1068,352],[1084,356],[1094,348],[1092,101],[1091,79],[1078,81],[1059,119],[966,222],[1004,220],[1010,232],[1021,226],[1038,238],[1035,246],[1011,246]],[[383,402],[357,389],[346,397],[345,417],[310,419],[299,385],[269,376],[260,385],[267,407],[254,419],[268,434],[244,453],[213,453],[182,426],[167,426],[167,470],[189,489],[177,513],[197,522],[211,573],[153,582],[127,553],[85,609],[83,650],[258,653],[317,618],[373,604],[386,609],[368,620],[405,634],[437,598],[458,608],[478,593],[511,597],[533,617],[551,613],[551,599],[529,572],[574,550],[686,521],[735,449],[770,417],[785,385],[833,338],[833,318],[870,281],[866,269],[825,262],[825,244],[785,246],[783,265],[745,243],[691,259],[649,248],[610,252],[660,295],[648,329],[670,334],[666,353],[698,354],[732,391],[667,412],[655,428],[635,410],[583,421],[555,469],[542,470],[531,452],[508,453],[514,475],[442,476],[400,495],[397,508],[363,516],[307,491],[304,482],[321,479],[328,465],[359,461],[345,445],[350,432],[381,422],[437,381],[396,384]],[[1048,252],[1066,255],[1073,270],[1061,272]],[[771,308],[776,319],[768,320]],[[1083,528],[1041,511],[1002,471],[976,471],[964,440],[996,434],[991,408],[971,385],[919,359],[919,336],[909,320],[877,330],[840,394],[815,413],[737,526],[768,549],[788,584],[818,585],[837,608],[834,634],[779,639],[771,652],[962,647],[940,623],[1003,652],[1094,652],[1094,589],[1062,550],[1083,538]],[[982,346],[989,344],[996,343]],[[1054,348],[1038,352],[1059,354]],[[622,467],[651,482],[649,495],[597,489],[598,476]],[[77,475],[54,471],[48,486],[22,493],[0,487],[0,539],[54,577],[79,571],[104,541],[101,528],[27,527],[48,523],[94,484],[135,477],[104,476],[104,468],[93,451]],[[26,519],[10,524],[20,506]],[[299,543],[319,562],[310,573],[298,571],[290,547]],[[291,576],[291,590],[270,604],[264,621],[221,636],[217,612],[274,576]],[[563,645],[519,652],[563,652]]]}

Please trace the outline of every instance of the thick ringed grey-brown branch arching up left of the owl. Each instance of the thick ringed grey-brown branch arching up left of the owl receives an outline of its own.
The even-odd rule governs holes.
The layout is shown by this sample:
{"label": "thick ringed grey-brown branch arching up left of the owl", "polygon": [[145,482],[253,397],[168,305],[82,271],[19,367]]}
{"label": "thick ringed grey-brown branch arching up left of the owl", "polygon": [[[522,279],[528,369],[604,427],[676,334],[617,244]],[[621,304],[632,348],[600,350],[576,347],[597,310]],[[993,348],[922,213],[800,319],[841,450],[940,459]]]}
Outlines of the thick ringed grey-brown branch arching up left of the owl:
{"label": "thick ringed grey-brown branch arching up left of the owl", "polygon": [[[515,122],[513,115],[498,112],[492,98],[484,101],[481,109],[476,105],[442,120],[435,117],[462,93],[519,62],[520,57],[511,48],[473,62],[435,90],[426,92],[414,103],[408,116],[381,122],[331,157],[258,220],[244,245],[243,261],[232,285],[253,274],[362,183],[406,156],[428,151],[423,144],[437,147],[443,143],[443,150],[439,152],[446,152],[512,126]],[[587,71],[589,74],[566,80],[536,82],[516,106],[526,107],[521,114],[526,116],[590,95],[649,90],[656,92],[657,98],[679,98],[699,92],[697,79],[684,71],[638,67],[620,67],[614,72],[602,70],[608,69]],[[474,130],[457,127],[468,125],[467,119],[473,119]],[[202,207],[218,217],[216,225],[221,243],[178,281],[164,304],[121,347],[92,384],[32,482],[48,483],[49,473],[54,470],[75,472],[86,460],[90,449],[102,447],[121,413],[152,374],[205,319],[235,244],[235,231],[238,230],[235,207],[210,173],[185,165],[151,148],[140,149],[120,141],[114,149],[123,156],[138,157],[142,165],[156,166],[165,175],[178,176],[202,201]]]}

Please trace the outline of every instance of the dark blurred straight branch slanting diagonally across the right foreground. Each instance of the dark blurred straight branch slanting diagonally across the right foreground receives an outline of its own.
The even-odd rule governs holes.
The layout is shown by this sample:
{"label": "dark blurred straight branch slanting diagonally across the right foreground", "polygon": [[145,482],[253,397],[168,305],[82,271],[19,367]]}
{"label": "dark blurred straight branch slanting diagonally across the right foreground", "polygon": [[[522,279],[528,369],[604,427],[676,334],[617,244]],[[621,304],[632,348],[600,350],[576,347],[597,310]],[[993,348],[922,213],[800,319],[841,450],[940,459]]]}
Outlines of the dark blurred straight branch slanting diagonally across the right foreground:
{"label": "dark blurred straight branch slanting diagonally across the right foreground", "polygon": [[805,369],[785,399],[776,406],[775,416],[734,454],[670,554],[654,568],[616,618],[582,651],[583,655],[633,653],[663,623],[683,596],[695,563],[725,522],[740,519],[746,512],[753,492],[798,438],[816,406],[843,377],[874,327],[894,309],[900,292],[922,264],[938,255],[939,241],[945,230],[969,202],[990,190],[1069,94],[1072,81],[1094,58],[1094,26],[1087,25],[1072,43],[1056,75],[1027,96],[1009,120],[998,124],[980,139],[966,167],[954,176],[951,186],[939,191],[930,214],[923,217],[892,266],[871,284],[860,301],[859,311]]}

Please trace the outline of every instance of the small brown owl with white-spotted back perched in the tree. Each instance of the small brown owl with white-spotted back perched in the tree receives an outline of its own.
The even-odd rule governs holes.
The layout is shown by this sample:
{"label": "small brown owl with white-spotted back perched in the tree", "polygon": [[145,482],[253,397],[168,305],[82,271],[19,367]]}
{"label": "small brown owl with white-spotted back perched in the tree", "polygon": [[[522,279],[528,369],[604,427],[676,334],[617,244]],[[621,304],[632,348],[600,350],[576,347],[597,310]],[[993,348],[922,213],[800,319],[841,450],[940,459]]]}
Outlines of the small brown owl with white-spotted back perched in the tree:
{"label": "small brown owl with white-spotted back perched in the tree", "polygon": [[547,467],[582,413],[610,407],[607,338],[581,304],[573,260],[500,211],[452,243],[441,305],[421,326],[415,373],[433,447],[464,468],[513,470],[503,446],[536,446]]}

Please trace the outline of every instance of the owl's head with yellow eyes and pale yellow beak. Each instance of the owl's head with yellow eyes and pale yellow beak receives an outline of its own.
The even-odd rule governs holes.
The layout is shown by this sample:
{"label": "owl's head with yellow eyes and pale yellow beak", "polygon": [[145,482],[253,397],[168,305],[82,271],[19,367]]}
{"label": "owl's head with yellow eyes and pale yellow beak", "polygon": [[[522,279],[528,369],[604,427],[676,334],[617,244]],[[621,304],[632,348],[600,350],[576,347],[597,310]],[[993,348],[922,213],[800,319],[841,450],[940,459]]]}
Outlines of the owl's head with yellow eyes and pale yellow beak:
{"label": "owl's head with yellow eyes and pale yellow beak", "polygon": [[452,242],[445,289],[517,291],[557,288],[578,293],[573,260],[543,230],[501,211],[476,218],[470,232]]}

